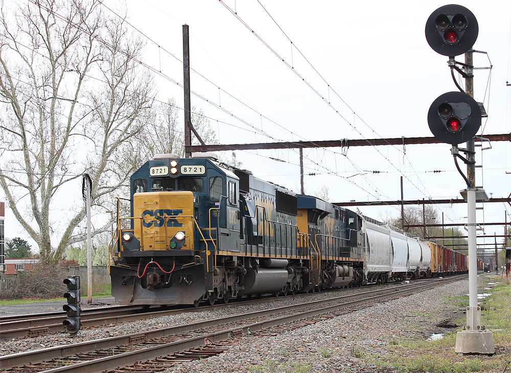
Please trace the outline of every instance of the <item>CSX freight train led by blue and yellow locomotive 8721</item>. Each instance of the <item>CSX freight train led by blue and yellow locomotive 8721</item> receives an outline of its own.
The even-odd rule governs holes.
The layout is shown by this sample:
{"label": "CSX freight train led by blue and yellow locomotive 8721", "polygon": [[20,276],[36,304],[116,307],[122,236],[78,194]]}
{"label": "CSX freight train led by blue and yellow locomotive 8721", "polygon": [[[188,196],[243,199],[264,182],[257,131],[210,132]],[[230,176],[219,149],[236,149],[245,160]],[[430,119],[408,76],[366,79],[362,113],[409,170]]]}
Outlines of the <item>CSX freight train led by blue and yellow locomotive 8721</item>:
{"label": "CSX freight train led by blue and yellow locomotive 8721", "polygon": [[112,295],[198,306],[428,277],[444,265],[431,245],[214,154],[162,154],[131,176],[130,217],[118,212]]}

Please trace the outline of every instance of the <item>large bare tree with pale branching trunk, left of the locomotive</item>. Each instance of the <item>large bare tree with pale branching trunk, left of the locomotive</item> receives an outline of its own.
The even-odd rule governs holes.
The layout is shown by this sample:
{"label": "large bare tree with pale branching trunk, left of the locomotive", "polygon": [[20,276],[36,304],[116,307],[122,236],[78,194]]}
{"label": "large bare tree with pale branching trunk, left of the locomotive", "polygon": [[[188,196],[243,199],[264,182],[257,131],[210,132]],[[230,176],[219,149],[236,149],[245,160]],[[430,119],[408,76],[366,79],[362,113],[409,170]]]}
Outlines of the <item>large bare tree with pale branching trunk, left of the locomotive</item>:
{"label": "large bare tree with pale branching trunk, left of the locomotive", "polygon": [[96,213],[112,209],[133,170],[130,141],[150,119],[153,78],[140,67],[144,43],[98,0],[4,3],[0,27],[0,183],[41,259],[57,263],[84,240],[83,204],[54,214],[72,200],[69,182],[88,173]]}

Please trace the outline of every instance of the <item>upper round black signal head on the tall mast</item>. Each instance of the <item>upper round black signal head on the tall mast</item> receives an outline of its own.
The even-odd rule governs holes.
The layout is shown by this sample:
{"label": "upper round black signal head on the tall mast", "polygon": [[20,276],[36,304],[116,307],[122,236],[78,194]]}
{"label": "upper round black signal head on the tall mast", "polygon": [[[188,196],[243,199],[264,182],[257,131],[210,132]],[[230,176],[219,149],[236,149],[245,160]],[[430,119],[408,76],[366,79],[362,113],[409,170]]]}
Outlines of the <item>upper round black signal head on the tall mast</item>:
{"label": "upper round black signal head on the tall mast", "polygon": [[474,45],[479,26],[474,14],[461,5],[445,5],[429,16],[426,40],[431,48],[444,56],[454,57]]}

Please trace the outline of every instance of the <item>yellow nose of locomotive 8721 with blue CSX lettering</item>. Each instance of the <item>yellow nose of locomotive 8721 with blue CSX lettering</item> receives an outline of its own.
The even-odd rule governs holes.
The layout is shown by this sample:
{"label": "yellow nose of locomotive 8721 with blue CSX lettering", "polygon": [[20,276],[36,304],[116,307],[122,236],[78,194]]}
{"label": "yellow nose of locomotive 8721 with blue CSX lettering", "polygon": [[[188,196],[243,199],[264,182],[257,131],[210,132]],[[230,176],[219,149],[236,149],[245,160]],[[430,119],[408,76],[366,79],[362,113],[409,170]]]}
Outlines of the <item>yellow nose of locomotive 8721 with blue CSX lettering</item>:
{"label": "yellow nose of locomotive 8721 with blue CSX lettering", "polygon": [[134,235],[141,250],[194,249],[193,193],[135,193]]}

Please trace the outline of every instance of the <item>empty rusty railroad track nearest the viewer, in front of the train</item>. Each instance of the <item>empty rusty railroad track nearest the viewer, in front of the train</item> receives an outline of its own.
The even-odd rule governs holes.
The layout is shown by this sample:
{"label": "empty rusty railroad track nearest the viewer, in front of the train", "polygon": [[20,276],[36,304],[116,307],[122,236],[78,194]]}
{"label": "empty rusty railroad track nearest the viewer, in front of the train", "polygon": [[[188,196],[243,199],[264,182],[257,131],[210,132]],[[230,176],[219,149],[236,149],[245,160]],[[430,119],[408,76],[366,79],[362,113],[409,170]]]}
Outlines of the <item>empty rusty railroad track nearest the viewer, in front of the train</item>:
{"label": "empty rusty railroad track nearest the viewer, in front of the train", "polygon": [[[144,333],[40,349],[0,357],[1,372],[75,372],[123,371],[118,367],[132,365],[126,371],[157,371],[183,360],[219,354],[228,341],[242,334],[275,335],[333,318],[355,309],[370,307],[433,287],[458,281],[409,284],[386,290],[373,290],[319,301],[278,307],[246,314],[212,319]],[[184,352],[183,352],[184,351]],[[27,364],[27,362],[31,362]],[[145,361],[144,363],[135,362]],[[43,363],[44,362],[44,363]]]}

